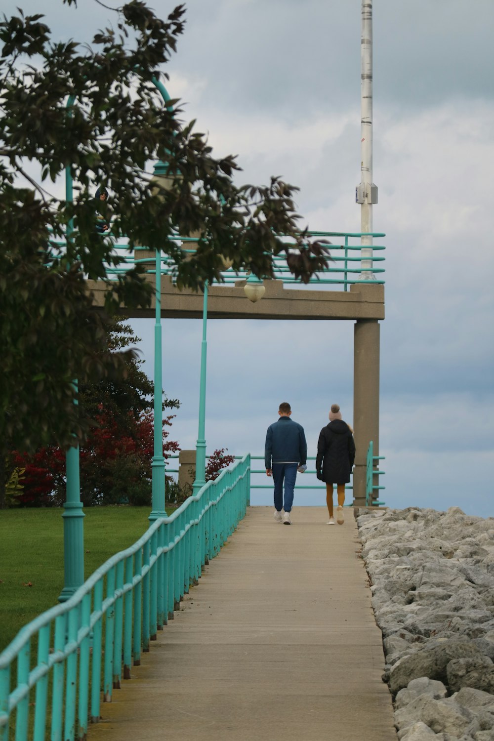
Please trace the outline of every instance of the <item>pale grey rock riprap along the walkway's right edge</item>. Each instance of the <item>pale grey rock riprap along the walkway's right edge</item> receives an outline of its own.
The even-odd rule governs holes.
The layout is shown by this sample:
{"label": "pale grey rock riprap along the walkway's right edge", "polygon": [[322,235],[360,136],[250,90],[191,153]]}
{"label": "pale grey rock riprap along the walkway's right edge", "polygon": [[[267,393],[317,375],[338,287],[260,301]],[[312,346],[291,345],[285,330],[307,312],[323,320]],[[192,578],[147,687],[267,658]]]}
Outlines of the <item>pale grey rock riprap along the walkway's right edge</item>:
{"label": "pale grey rock riprap along the walkway's right edge", "polygon": [[403,741],[494,741],[494,518],[357,513]]}

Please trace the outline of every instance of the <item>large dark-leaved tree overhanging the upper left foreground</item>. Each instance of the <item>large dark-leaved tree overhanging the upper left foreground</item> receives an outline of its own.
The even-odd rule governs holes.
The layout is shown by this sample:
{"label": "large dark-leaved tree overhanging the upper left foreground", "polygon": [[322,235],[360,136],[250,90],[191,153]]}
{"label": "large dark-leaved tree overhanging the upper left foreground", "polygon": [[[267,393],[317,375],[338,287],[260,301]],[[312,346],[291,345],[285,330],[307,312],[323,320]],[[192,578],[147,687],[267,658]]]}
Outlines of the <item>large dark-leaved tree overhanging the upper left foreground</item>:
{"label": "large dark-leaved tree overhanging the upper left foreground", "polygon": [[[235,185],[236,159],[215,159],[194,122],[181,121],[178,101],[163,104],[155,81],[167,77],[160,68],[183,33],[184,6],[167,20],[140,0],[115,13],[116,28],[99,30],[90,44],[54,41],[41,13],[19,10],[0,23],[0,459],[9,448],[83,441],[89,419],[73,405],[73,379],[126,372],[119,353],[107,350],[107,316],[85,280],[107,281],[107,266],[121,262],[115,239],[167,252],[179,288],[221,280],[221,256],[272,276],[272,257],[283,253],[303,280],[327,265],[327,247],[298,227],[296,188],[278,178]],[[150,187],[146,168],[158,159],[168,165],[166,190]],[[27,162],[39,163],[39,179]],[[43,185],[65,167],[73,202]],[[113,236],[95,227],[98,186],[110,193]],[[73,234],[60,246],[69,225]],[[198,234],[192,257],[168,241],[177,232]],[[139,265],[107,289],[107,314],[149,305],[153,290]]]}

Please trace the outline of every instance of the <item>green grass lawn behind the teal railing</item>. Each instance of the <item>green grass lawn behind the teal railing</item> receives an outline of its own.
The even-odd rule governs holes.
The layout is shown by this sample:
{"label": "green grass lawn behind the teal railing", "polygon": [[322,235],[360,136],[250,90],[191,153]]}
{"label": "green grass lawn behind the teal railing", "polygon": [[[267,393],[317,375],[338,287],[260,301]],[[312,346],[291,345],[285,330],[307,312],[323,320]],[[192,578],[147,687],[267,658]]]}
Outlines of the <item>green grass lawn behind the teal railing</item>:
{"label": "green grass lawn behind the teal railing", "polygon": [[[0,511],[0,651],[41,612],[58,604],[64,586],[63,509]],[[149,507],[85,510],[84,574],[147,530]]]}

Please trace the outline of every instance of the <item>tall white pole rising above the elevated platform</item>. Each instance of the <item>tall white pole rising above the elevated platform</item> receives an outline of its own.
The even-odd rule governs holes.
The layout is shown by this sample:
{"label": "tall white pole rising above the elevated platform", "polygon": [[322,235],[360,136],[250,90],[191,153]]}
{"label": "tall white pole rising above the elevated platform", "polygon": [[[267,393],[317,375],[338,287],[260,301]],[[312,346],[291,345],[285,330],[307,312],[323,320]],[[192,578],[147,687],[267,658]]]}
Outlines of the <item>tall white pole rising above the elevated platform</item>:
{"label": "tall white pole rising above the elevated platform", "polygon": [[[373,0],[362,0],[361,33],[361,180],[356,202],[361,205],[361,232],[366,233],[373,231],[373,203],[378,200],[373,184]],[[375,280],[372,245],[372,236],[362,236],[359,280]]]}

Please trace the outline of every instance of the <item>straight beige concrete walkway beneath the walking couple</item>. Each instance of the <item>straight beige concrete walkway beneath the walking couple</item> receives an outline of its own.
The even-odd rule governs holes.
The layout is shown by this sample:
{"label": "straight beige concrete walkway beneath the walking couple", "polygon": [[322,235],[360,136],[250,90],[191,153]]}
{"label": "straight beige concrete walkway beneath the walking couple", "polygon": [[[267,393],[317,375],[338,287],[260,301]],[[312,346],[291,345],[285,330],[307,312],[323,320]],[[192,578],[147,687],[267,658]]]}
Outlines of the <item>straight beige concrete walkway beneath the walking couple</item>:
{"label": "straight beige concrete walkway beneath the walking couple", "polygon": [[353,510],[250,508],[89,741],[396,741]]}

